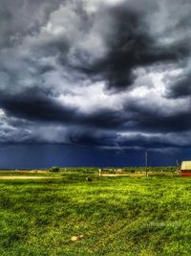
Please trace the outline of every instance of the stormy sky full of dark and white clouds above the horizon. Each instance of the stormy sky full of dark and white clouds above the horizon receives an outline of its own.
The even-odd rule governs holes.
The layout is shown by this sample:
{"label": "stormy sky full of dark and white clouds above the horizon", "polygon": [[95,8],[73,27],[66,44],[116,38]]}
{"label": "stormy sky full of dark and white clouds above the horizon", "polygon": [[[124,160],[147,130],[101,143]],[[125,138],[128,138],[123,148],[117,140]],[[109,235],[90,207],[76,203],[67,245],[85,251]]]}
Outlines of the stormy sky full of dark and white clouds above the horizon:
{"label": "stormy sky full of dark and white clouds above the horizon", "polygon": [[0,0],[0,168],[191,159],[189,0]]}

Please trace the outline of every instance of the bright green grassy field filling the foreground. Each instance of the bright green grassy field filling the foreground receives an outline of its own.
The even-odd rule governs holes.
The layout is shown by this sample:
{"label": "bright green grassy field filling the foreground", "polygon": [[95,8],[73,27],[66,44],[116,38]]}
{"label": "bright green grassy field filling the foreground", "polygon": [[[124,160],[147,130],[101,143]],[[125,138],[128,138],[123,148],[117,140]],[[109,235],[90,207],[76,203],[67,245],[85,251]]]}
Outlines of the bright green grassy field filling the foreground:
{"label": "bright green grassy field filling the foreground", "polygon": [[1,256],[191,255],[191,178],[46,175],[0,180]]}

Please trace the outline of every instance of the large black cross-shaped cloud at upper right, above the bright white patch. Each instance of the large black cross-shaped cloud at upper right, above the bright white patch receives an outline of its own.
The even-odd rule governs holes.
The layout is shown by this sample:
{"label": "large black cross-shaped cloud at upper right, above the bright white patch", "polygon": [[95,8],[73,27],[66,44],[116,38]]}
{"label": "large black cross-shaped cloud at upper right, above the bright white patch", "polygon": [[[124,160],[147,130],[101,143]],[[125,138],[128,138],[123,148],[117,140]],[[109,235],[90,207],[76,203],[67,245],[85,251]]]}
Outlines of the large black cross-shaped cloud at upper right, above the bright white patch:
{"label": "large black cross-shaped cloud at upper right, above the bright white patch", "polygon": [[114,34],[106,39],[108,54],[90,66],[90,70],[102,74],[109,88],[122,90],[132,85],[135,81],[133,71],[138,66],[176,62],[188,55],[189,46],[184,42],[159,45],[157,38],[149,33],[145,16],[153,9],[158,9],[158,5],[151,4],[138,12],[124,3],[107,11],[113,17]]}

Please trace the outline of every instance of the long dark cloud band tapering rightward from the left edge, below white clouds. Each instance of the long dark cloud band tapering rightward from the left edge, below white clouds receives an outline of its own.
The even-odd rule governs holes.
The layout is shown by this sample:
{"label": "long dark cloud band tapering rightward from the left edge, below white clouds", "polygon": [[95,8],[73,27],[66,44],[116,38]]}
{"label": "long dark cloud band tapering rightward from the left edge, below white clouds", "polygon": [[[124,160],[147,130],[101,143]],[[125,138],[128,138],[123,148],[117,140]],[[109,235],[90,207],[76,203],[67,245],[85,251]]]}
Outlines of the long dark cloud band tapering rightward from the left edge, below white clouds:
{"label": "long dark cloud band tapering rightward from the left edge, below white clouds", "polygon": [[[42,91],[37,86],[19,93],[1,92],[0,108],[3,108],[10,117],[63,125],[85,125],[87,128],[119,128],[126,122],[124,115],[110,108],[97,109],[85,114],[78,111],[76,107],[61,105],[53,97],[52,92]],[[20,126],[22,121],[16,120],[14,125]]]}

